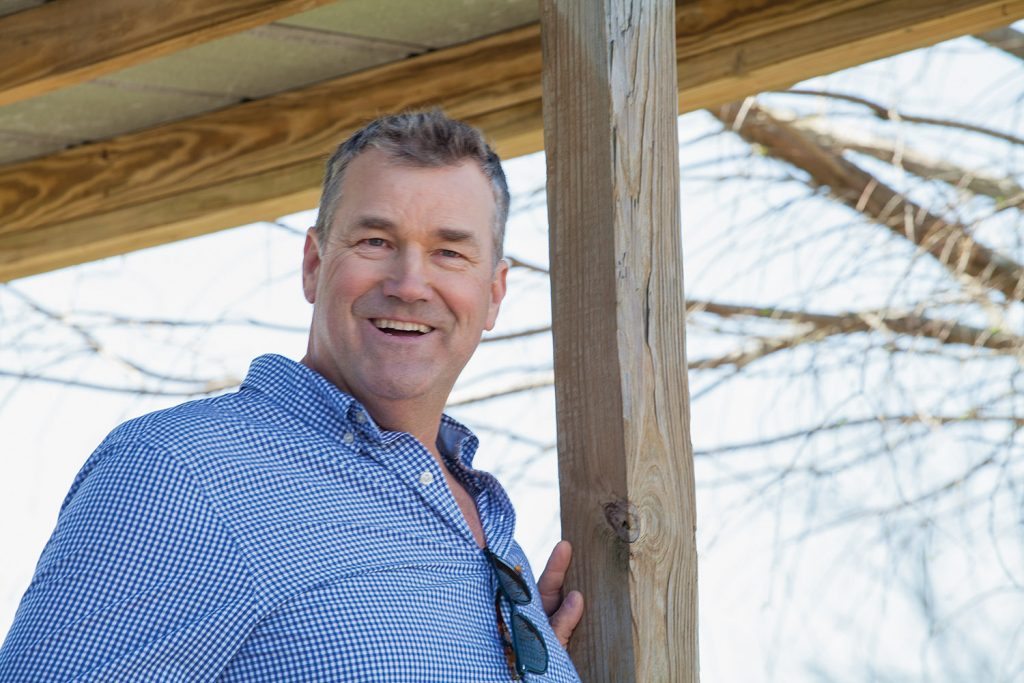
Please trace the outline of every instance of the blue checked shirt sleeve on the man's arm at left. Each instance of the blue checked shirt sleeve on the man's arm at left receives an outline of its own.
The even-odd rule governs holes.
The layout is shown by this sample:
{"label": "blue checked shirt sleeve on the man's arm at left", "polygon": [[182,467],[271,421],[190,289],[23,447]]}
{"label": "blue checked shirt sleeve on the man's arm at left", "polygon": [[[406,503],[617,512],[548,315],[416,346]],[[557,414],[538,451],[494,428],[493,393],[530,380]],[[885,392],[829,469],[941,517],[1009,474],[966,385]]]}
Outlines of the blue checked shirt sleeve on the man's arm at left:
{"label": "blue checked shirt sleeve on the man's arm at left", "polygon": [[103,444],[39,559],[0,681],[213,680],[255,605],[241,553],[177,459]]}

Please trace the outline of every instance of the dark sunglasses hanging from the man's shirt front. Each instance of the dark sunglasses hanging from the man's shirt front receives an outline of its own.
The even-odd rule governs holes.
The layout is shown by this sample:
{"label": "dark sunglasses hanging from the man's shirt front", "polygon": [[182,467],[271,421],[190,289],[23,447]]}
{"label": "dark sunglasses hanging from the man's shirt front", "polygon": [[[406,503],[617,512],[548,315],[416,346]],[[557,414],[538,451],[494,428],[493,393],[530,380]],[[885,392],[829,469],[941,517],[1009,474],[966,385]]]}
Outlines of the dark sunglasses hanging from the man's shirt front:
{"label": "dark sunglasses hanging from the man's shirt front", "polygon": [[[495,555],[487,548],[483,554],[490,561],[490,566],[498,577],[498,591],[495,593],[495,613],[498,616],[498,632],[505,648],[505,659],[513,680],[519,680],[523,674],[543,674],[548,671],[548,646],[544,637],[534,623],[523,616],[516,605],[528,605],[530,602],[529,586],[522,578],[520,569],[512,566]],[[502,596],[509,601],[511,614],[511,635],[502,613]]]}

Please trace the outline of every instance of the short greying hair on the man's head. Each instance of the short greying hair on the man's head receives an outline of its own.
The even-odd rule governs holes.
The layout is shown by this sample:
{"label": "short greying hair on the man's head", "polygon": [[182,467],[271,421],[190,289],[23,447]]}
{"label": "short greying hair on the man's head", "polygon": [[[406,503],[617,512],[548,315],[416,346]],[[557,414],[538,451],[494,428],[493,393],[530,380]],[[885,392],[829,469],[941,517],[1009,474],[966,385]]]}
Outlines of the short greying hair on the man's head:
{"label": "short greying hair on the man's head", "polygon": [[435,168],[465,160],[477,163],[495,195],[495,262],[503,255],[505,223],[509,215],[509,188],[501,159],[483,134],[467,123],[450,119],[440,110],[409,112],[371,121],[338,145],[327,163],[324,193],[316,215],[316,238],[326,244],[334,212],[341,200],[345,169],[368,148],[380,150],[400,164]]}

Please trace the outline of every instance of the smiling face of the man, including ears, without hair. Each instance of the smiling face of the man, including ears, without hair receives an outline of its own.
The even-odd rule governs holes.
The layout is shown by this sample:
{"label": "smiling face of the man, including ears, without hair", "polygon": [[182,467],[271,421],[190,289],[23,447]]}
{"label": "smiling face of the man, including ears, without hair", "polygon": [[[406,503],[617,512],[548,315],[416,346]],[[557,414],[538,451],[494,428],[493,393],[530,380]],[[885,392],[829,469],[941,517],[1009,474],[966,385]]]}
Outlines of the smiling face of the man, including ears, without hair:
{"label": "smiling face of the man, including ears, without hair", "polygon": [[327,244],[306,237],[307,361],[370,405],[439,410],[505,296],[490,183],[473,162],[400,166],[370,150],[345,171]]}

